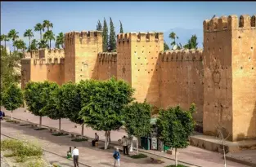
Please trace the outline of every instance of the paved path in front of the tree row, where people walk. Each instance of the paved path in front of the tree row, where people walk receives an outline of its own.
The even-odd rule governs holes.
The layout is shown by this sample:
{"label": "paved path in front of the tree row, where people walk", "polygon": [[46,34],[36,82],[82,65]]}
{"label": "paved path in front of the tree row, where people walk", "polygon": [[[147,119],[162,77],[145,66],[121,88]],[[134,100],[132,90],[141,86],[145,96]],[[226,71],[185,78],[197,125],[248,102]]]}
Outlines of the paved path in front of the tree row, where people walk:
{"label": "paved path in front of the tree row, where people walk", "polygon": [[[79,161],[84,164],[91,166],[113,166],[114,160],[112,156],[113,150],[101,150],[96,147],[91,147],[91,143],[82,142],[75,143],[71,142],[71,138],[67,136],[56,137],[53,136],[49,130],[34,130],[33,128],[20,126],[12,123],[7,123],[5,121],[1,122],[1,134],[7,134],[13,138],[19,138],[25,141],[30,141],[32,143],[37,143],[41,145],[44,149],[50,152],[55,152],[63,157],[66,156],[66,152],[69,150],[70,146],[76,146],[79,148],[80,156]],[[99,147],[103,147],[101,144]],[[166,165],[172,165],[173,160],[164,160],[165,163],[161,165],[150,164],[149,158],[143,160],[134,160],[127,156],[121,155],[121,165],[122,166],[148,166],[148,167],[162,167]],[[63,161],[61,160],[61,163]],[[72,165],[72,163],[70,164]]]}

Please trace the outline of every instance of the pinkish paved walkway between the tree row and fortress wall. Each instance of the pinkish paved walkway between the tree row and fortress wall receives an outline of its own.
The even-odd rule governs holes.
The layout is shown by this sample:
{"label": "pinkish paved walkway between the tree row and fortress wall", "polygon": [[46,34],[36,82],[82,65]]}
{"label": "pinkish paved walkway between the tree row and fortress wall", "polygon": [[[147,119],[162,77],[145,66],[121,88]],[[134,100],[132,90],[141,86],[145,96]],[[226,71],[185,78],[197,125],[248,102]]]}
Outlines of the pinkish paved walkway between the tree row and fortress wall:
{"label": "pinkish paved walkway between the tree row and fortress wall", "polygon": [[[11,112],[6,111],[5,109],[2,109],[2,111],[6,112],[7,116],[11,116]],[[39,117],[34,116],[33,114],[29,112],[24,112],[25,108],[18,108],[16,111],[13,112],[13,116],[16,118],[19,118],[21,120],[25,121],[30,121],[33,123],[39,122]],[[43,125],[47,125],[50,127],[58,128],[58,121],[49,119],[47,117],[43,117]],[[77,128],[75,128],[76,124],[73,122],[70,122],[69,120],[63,119],[61,121],[61,129],[68,131],[68,132],[73,132],[73,133],[81,133],[81,126],[77,125]],[[88,136],[89,138],[94,137],[94,133],[96,131],[92,130],[91,128],[84,128],[84,135]],[[104,140],[104,132],[98,131],[97,134],[99,134],[100,139]],[[127,135],[124,130],[118,130],[118,131],[112,131],[111,132],[111,143],[117,143],[117,140],[119,138],[122,138],[124,135]],[[56,137],[55,137],[56,138]],[[59,137],[59,138],[66,138],[66,137]],[[69,139],[70,140],[70,139]],[[59,142],[59,141],[58,141]],[[68,149],[68,148],[67,148]],[[142,150],[141,150],[142,151]],[[106,152],[103,151],[102,152]],[[166,154],[164,152],[158,152],[158,151],[146,151],[143,150],[143,152],[148,152],[150,154],[155,154],[159,156],[163,156],[166,158],[174,159],[174,156]],[[217,152],[209,152],[207,150],[201,149],[199,147],[192,147],[189,146],[185,149],[179,149],[179,155],[178,159],[182,161],[186,161],[186,163],[193,164],[193,165],[198,165],[198,166],[204,166],[204,167],[222,167],[223,166],[223,159],[222,155],[217,153]],[[110,156],[112,158],[112,156]],[[167,160],[164,158],[164,161]],[[245,167],[245,165],[241,165],[235,162],[231,162],[227,160],[227,165],[229,167]],[[141,165],[140,165],[141,166]]]}

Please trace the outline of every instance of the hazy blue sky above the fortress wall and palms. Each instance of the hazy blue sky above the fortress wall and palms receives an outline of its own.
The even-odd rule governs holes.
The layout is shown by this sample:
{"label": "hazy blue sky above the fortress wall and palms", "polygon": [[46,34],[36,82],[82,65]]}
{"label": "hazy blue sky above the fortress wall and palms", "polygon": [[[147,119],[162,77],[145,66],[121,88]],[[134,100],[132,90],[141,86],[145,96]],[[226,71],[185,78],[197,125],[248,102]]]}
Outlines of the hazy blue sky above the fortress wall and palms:
{"label": "hazy blue sky above the fortress wall and palms", "polygon": [[[119,20],[124,33],[170,29],[197,33],[202,30],[203,21],[213,15],[233,14],[256,15],[256,2],[1,2],[1,34],[16,29],[20,38],[28,42],[22,37],[25,29],[34,29],[43,20],[50,20],[52,31],[57,34],[94,30],[97,20],[102,23],[104,17],[108,24],[109,17],[112,18],[116,33],[119,33]],[[198,36],[202,41],[201,35]],[[38,33],[35,38],[39,39]]]}

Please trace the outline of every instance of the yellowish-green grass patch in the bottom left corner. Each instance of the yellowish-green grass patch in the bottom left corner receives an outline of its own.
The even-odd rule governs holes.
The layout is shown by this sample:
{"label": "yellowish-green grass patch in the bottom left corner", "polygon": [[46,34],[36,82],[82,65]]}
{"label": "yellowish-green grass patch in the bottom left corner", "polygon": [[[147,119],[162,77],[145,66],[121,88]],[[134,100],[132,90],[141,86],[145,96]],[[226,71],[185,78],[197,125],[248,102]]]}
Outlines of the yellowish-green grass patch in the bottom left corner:
{"label": "yellowish-green grass patch in the bottom left corner", "polygon": [[41,147],[32,143],[23,143],[19,140],[5,139],[1,141],[1,151],[11,151],[6,157],[16,156],[16,162],[25,162],[30,156],[42,156]]}

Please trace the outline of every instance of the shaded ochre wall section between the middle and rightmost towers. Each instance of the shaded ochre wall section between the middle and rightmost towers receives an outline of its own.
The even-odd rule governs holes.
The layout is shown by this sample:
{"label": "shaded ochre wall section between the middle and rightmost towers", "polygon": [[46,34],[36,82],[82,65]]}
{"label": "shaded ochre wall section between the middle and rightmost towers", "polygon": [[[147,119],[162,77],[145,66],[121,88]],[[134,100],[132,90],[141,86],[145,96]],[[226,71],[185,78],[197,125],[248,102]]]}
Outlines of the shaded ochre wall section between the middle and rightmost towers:
{"label": "shaded ochre wall section between the middle and rightmost towers", "polygon": [[165,51],[160,56],[160,105],[180,105],[189,109],[195,103],[195,121],[203,120],[204,67],[202,51]]}

